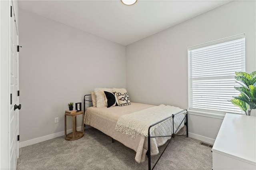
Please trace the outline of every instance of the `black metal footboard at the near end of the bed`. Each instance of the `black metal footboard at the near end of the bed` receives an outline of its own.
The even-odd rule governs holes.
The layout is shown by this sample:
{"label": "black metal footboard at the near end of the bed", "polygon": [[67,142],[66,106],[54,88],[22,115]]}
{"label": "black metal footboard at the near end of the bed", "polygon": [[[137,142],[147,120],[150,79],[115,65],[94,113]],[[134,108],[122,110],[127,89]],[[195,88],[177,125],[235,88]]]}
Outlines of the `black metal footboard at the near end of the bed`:
{"label": "black metal footboard at the near end of the bed", "polygon": [[[186,111],[186,115],[185,115],[185,117],[184,117],[184,119],[186,118],[186,122],[184,123],[184,125],[186,125],[186,131],[187,131],[187,132],[186,132],[186,133],[187,133],[186,136],[188,137],[188,111],[187,111],[187,109],[184,109],[184,110],[182,110],[182,111],[180,111],[180,112],[178,112],[178,113],[175,113],[175,114],[173,114],[172,116],[163,119],[162,121],[159,121],[159,122],[157,122],[157,123],[154,123],[153,125],[150,125],[150,127],[148,128],[148,152],[147,152],[147,155],[148,155],[148,170],[151,170],[150,138],[168,137],[168,136],[172,136],[172,138],[174,138],[174,137],[175,137],[175,134],[176,134],[176,132],[177,132],[177,130],[179,129],[180,125],[182,125],[182,123],[183,123],[183,121],[184,121],[184,119],[183,119],[182,122],[180,123],[180,125],[178,126],[176,132],[174,132],[174,117],[175,117],[175,115],[178,115],[179,113],[182,113],[182,112],[184,112],[184,111]],[[159,124],[159,123],[161,123],[161,122],[163,122],[163,121],[165,121],[165,120],[167,120],[167,119],[170,119],[171,117],[172,117],[172,132],[173,132],[172,135],[167,135],[167,136],[150,136],[150,128],[151,128],[151,127],[153,127],[153,126],[155,126],[155,125],[157,125],[157,124]],[[171,139],[172,139],[172,138],[171,138]],[[169,140],[168,144],[167,144],[166,147],[164,148],[162,154],[164,154],[164,151],[165,151],[166,148],[168,147],[168,145],[169,145],[171,139]],[[155,168],[155,166],[156,166],[157,162],[160,160],[162,154],[159,156],[159,158],[158,158],[158,160],[156,161],[156,163],[154,164],[152,170]]]}

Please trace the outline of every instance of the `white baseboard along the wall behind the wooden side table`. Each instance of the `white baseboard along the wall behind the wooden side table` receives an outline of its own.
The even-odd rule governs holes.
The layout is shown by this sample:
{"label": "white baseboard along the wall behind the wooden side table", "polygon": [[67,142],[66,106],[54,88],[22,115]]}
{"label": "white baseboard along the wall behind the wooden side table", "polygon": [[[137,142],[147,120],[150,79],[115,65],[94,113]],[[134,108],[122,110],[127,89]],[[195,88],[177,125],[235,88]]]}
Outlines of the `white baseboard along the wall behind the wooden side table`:
{"label": "white baseboard along the wall behind the wooden side table", "polygon": [[[86,127],[86,128],[87,128],[87,127]],[[77,131],[80,131],[80,130],[81,130],[81,127],[77,127],[76,130],[77,130]],[[71,133],[72,131],[73,131],[73,129],[68,129],[68,130],[67,130],[67,134],[68,134],[68,133]],[[24,142],[19,142],[19,146],[20,146],[20,148],[22,148],[22,147],[24,147],[24,146],[36,144],[36,143],[39,143],[39,142],[43,142],[43,141],[45,141],[45,140],[57,138],[57,137],[59,137],[59,136],[64,136],[64,135],[65,135],[65,131],[57,132],[57,133],[49,134],[49,135],[42,136],[42,137],[39,137],[39,138],[34,138],[34,139],[26,140],[26,141],[24,141]]]}

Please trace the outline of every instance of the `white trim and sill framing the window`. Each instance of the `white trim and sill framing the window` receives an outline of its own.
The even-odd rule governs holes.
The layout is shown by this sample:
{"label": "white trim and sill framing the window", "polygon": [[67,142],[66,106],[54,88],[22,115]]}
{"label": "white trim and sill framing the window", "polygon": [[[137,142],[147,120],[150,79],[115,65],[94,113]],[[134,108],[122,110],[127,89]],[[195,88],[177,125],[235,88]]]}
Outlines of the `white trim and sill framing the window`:
{"label": "white trim and sill framing the window", "polygon": [[[242,39],[242,38],[245,38],[245,33],[188,47],[188,113],[189,114],[199,115],[199,116],[204,116],[204,117],[212,117],[212,118],[217,118],[217,119],[223,119],[224,116],[226,115],[226,113],[228,113],[228,112],[222,112],[222,111],[212,111],[212,110],[190,108],[190,83],[191,83],[190,82],[190,74],[191,74],[190,51],[193,50],[193,49],[198,49],[198,48],[202,48],[202,47],[216,45],[216,44],[219,44],[219,43],[229,42],[229,41],[238,40],[238,39]],[[246,51],[245,51],[245,53],[246,53]],[[245,59],[244,62],[246,63],[246,59]],[[239,113],[233,113],[233,114],[239,114]],[[241,111],[241,115],[243,115],[242,111]]]}

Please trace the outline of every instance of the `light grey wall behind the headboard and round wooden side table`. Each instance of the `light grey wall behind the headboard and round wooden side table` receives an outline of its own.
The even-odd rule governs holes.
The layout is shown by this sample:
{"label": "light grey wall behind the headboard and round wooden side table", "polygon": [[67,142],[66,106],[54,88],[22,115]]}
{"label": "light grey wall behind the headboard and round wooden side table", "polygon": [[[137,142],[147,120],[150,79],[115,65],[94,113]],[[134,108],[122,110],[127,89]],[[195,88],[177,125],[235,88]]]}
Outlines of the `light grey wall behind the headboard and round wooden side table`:
{"label": "light grey wall behind the headboard and round wooden side table", "polygon": [[94,88],[125,87],[125,46],[21,9],[19,18],[20,142],[63,133],[67,103]]}

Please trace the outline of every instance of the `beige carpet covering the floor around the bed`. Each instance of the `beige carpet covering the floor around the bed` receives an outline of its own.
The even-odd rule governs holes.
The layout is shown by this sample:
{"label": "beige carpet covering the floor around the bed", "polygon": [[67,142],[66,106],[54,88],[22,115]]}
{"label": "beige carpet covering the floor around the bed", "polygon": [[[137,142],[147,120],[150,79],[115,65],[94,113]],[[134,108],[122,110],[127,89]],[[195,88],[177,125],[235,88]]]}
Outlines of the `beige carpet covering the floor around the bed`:
{"label": "beige carpet covering the floor around the bed", "polygon": [[[160,151],[165,146],[160,147]],[[211,170],[212,153],[200,141],[176,136],[155,170]],[[159,156],[160,154],[158,154]],[[152,166],[158,159],[152,156]],[[83,138],[67,141],[64,136],[20,148],[18,170],[147,170],[148,161],[138,164],[135,151],[95,128],[86,129]]]}

